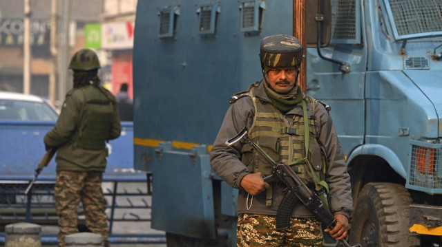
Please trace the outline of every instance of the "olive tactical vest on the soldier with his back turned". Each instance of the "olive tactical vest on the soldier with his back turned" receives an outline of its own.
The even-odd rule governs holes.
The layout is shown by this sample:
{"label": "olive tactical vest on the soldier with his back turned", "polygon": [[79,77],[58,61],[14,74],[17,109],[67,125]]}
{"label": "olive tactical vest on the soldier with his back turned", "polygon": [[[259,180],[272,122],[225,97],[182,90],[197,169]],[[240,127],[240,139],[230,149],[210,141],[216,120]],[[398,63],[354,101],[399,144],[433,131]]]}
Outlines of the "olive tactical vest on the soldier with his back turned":
{"label": "olive tactical vest on the soldier with his back turned", "polygon": [[83,149],[104,149],[115,111],[113,103],[94,85],[81,87],[80,90],[86,99],[86,109],[74,143]]}

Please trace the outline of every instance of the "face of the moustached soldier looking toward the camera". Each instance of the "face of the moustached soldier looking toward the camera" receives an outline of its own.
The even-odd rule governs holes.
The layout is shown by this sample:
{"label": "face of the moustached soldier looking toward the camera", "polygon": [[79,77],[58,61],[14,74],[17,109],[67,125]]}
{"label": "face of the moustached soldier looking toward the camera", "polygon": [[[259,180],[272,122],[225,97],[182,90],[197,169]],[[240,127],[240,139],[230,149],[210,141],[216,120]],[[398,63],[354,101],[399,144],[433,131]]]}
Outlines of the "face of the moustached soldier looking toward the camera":
{"label": "face of the moustached soldier looking toward the camera", "polygon": [[298,72],[295,67],[273,68],[267,72],[271,88],[278,93],[287,93],[295,85]]}

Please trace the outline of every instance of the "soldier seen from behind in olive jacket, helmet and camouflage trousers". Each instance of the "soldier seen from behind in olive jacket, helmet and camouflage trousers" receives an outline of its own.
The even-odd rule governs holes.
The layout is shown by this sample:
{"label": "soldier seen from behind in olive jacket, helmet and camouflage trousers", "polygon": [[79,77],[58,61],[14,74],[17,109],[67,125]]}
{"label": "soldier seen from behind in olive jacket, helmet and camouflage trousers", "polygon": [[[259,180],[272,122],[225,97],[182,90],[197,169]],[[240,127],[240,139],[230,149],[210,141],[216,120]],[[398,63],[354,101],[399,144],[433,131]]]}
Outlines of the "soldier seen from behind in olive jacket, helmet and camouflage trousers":
{"label": "soldier seen from behind in olive jacket, helmet and camouflage trousers", "polygon": [[77,233],[79,202],[86,214],[86,226],[102,235],[108,247],[108,225],[104,211],[102,173],[108,149],[105,142],[121,132],[117,101],[99,85],[97,55],[84,49],[75,53],[74,86],[64,100],[53,129],[44,137],[46,149],[57,149],[55,202],[59,217],[59,246],[66,246],[66,235]]}

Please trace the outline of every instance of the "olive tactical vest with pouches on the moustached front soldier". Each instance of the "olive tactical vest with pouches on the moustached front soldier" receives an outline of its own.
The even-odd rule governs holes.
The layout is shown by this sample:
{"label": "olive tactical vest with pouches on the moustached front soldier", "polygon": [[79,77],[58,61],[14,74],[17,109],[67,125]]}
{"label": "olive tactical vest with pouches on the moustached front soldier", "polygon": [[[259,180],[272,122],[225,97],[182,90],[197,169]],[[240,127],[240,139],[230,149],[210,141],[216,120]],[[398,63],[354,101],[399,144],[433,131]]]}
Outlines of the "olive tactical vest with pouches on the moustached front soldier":
{"label": "olive tactical vest with pouches on the moustached front soldier", "polygon": [[[315,186],[316,190],[328,189],[324,182],[327,159],[316,140],[315,116],[307,117],[308,133],[305,131],[304,116],[294,115],[287,119],[271,103],[262,102],[255,97],[256,87],[249,88],[253,100],[255,116],[247,135],[258,144],[275,162],[285,162],[298,174],[305,184]],[[304,114],[307,114],[307,103],[314,113],[314,98],[302,100]],[[305,151],[305,137],[308,136],[308,153]],[[262,160],[252,146],[247,143],[242,147],[242,162],[249,171],[260,171],[271,174],[271,165]],[[267,205],[271,204],[271,189],[267,190]]]}

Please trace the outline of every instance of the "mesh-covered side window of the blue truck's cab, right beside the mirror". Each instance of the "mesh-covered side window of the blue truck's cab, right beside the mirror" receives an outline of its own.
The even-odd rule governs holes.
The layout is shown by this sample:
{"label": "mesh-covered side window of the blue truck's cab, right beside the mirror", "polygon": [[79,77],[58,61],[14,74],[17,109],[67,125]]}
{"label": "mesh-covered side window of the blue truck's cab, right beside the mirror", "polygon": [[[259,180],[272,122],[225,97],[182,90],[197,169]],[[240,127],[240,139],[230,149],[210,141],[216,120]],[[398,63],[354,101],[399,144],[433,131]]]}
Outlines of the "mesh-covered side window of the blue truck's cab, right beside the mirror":
{"label": "mesh-covered side window of the blue truck's cab, right beside the mirror", "polygon": [[355,0],[332,0],[332,39],[356,39]]}

